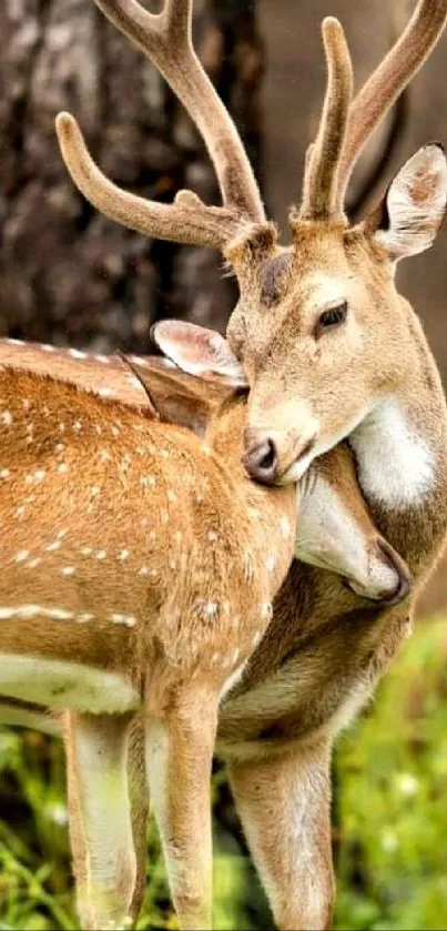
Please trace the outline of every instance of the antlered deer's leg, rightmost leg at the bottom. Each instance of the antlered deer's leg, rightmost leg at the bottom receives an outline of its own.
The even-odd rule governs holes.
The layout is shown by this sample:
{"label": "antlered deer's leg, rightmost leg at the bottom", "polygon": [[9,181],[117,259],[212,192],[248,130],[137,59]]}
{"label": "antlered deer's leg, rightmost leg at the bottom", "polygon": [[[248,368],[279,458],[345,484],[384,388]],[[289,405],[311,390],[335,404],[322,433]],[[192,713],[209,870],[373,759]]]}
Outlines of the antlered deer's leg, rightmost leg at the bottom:
{"label": "antlered deer's leg, rightmost leg at the bottom", "polygon": [[327,745],[294,746],[230,765],[238,814],[281,931],[332,923],[329,756]]}

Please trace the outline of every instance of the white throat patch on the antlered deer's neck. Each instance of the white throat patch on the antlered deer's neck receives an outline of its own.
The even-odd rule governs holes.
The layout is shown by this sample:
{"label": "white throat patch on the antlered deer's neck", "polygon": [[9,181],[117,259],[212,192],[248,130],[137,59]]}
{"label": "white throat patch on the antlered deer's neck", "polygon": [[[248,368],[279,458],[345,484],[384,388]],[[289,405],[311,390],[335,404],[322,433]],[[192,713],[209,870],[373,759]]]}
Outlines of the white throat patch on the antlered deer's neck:
{"label": "white throat patch on the antlered deer's neck", "polygon": [[435,458],[396,398],[378,404],[351,436],[363,490],[389,508],[420,502],[433,488]]}

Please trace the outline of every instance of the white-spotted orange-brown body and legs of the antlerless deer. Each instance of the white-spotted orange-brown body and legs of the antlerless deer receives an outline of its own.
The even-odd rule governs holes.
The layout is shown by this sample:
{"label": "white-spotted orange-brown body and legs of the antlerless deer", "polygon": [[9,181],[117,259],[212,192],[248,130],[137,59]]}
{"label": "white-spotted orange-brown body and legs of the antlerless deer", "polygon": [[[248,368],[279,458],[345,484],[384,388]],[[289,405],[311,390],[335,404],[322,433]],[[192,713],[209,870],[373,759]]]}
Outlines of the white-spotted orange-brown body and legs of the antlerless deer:
{"label": "white-spotted orange-brown body and legs of the antlerless deer", "polygon": [[[0,689],[38,702],[44,695],[50,708],[74,712],[70,793],[90,864],[81,918],[91,928],[121,927],[134,894],[123,779],[128,712],[144,702],[149,781],[174,901],[184,928],[207,927],[219,697],[271,619],[293,555],[296,493],[246,478],[245,404],[235,395],[214,409],[204,442],[49,376],[3,370],[0,396],[8,528],[0,540]],[[266,573],[270,547],[275,565]],[[33,671],[23,677],[18,662],[28,658]],[[54,684],[51,668],[40,672],[44,660],[65,661],[73,672]],[[84,676],[100,671],[118,674],[119,690],[134,697],[122,705],[113,686],[91,696]],[[99,791],[104,778],[118,792],[115,842],[106,812],[113,796]],[[114,866],[101,852],[105,842]]]}

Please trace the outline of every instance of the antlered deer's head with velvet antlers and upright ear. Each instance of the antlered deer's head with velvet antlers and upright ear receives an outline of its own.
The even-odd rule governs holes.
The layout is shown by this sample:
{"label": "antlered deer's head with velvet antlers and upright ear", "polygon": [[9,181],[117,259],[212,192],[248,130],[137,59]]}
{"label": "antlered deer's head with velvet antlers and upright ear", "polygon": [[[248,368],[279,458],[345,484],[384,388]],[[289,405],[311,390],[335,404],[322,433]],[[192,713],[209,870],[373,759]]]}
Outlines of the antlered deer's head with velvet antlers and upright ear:
{"label": "antlered deer's head with velvet antlers and upright ear", "polygon": [[62,155],[75,184],[112,219],[223,253],[240,300],[219,376],[228,371],[234,380],[238,362],[248,380],[244,462],[258,480],[296,480],[412,376],[405,348],[415,324],[396,290],[395,269],[428,249],[440,226],[447,199],[441,148],[420,149],[362,223],[349,225],[344,200],[360,150],[440,36],[447,0],[419,0],[354,101],[343,29],[335,19],[324,21],[327,90],[286,247],[266,220],[241,140],[193,51],[191,0],[166,0],[156,16],[136,0],[95,2],[155,62],[189,110],[214,162],[223,204],[206,206],[190,191],[172,205],[122,191],[100,172],[65,113],[57,122]]}

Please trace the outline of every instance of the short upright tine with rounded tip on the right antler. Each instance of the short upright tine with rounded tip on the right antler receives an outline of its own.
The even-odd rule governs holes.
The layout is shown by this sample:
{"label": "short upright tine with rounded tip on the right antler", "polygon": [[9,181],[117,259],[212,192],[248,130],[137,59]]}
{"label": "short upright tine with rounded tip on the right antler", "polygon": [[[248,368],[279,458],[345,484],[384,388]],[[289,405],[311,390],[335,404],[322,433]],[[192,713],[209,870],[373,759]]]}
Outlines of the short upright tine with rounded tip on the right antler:
{"label": "short upright tine with rounded tip on the right antler", "polygon": [[342,24],[323,21],[327,88],[315,143],[306,155],[301,220],[325,220],[336,212],[337,169],[353,93],[353,69]]}

